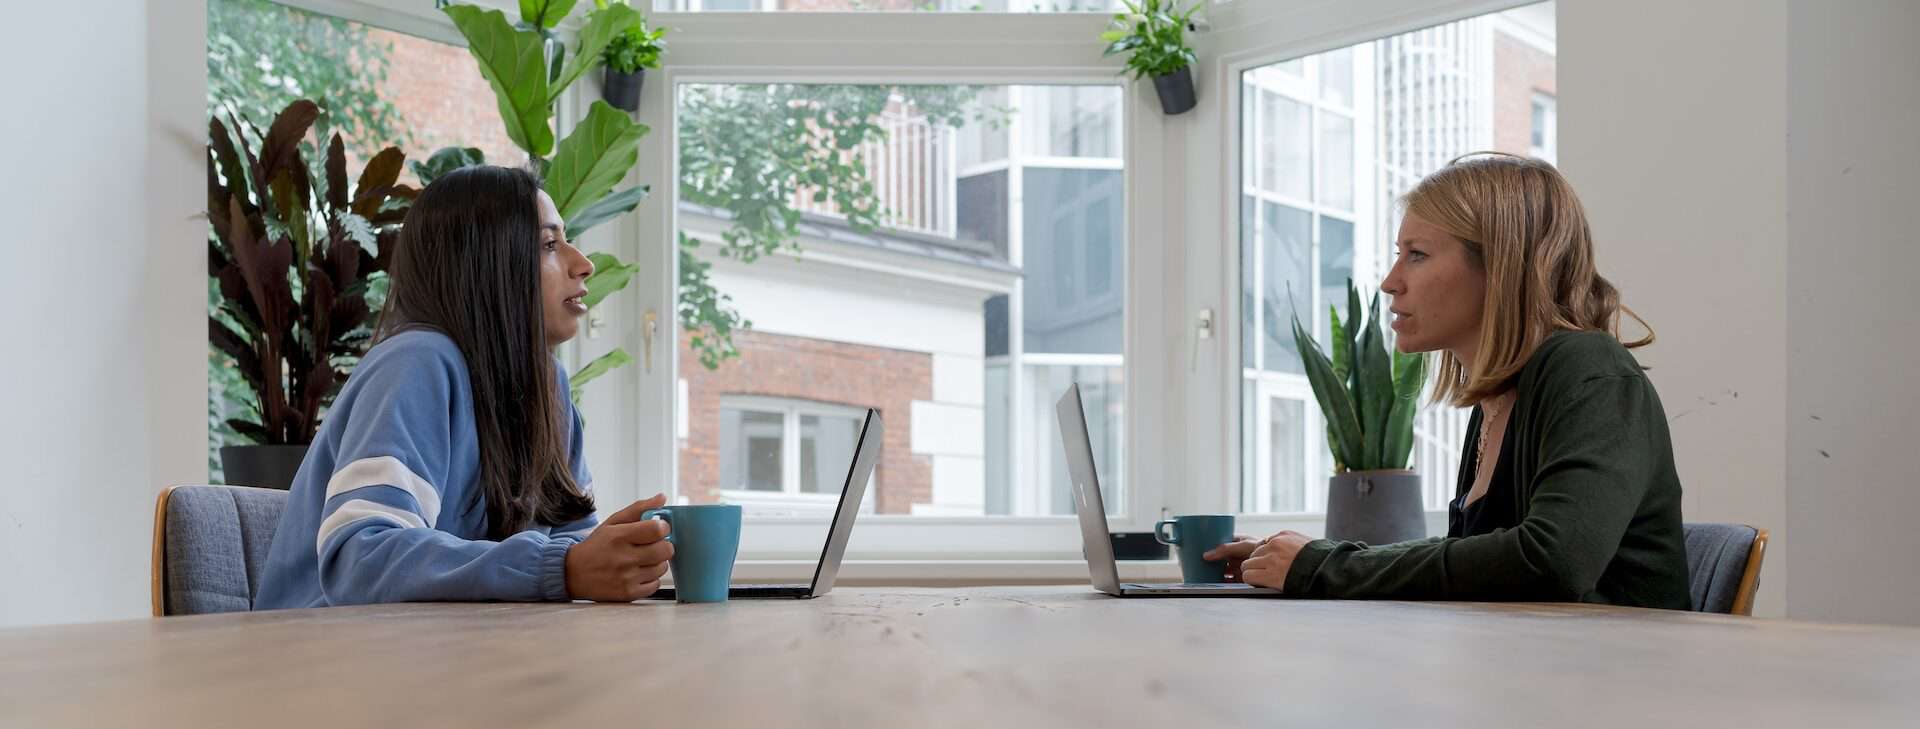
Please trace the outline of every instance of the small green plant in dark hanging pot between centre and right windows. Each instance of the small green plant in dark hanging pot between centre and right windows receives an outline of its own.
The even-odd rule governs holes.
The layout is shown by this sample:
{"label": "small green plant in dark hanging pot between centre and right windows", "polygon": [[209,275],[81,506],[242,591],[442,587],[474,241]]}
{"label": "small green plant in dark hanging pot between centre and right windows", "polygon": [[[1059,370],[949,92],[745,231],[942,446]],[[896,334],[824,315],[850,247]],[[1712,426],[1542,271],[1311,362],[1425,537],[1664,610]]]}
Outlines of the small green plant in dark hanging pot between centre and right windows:
{"label": "small green plant in dark hanging pot between centre and right windows", "polygon": [[1177,10],[1177,0],[1125,4],[1127,12],[1114,15],[1112,29],[1100,35],[1108,44],[1104,56],[1131,54],[1127,71],[1135,81],[1154,79],[1160,109],[1167,115],[1187,113],[1196,102],[1192,65],[1198,63],[1194,50],[1187,46],[1187,23],[1200,10],[1200,0],[1185,12]]}

